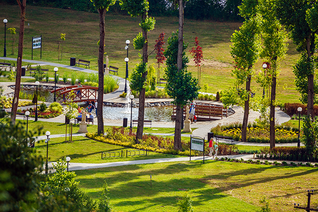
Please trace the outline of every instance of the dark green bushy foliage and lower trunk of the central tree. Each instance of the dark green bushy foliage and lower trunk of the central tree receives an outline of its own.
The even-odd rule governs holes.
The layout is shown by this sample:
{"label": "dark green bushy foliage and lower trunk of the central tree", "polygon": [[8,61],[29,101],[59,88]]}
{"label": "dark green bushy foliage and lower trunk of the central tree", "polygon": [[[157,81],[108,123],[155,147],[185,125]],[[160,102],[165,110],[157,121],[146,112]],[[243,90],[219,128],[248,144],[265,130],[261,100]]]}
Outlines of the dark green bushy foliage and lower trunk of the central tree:
{"label": "dark green bushy foliage and lower trunk of the central tree", "polygon": [[[178,33],[178,32],[177,32]],[[187,71],[188,58],[184,50],[186,45],[182,45],[181,69],[177,67],[179,38],[177,33],[172,33],[168,38],[168,47],[164,52],[166,57],[165,78],[167,79],[166,89],[168,95],[173,99],[172,103],[176,105],[177,114],[174,128],[174,149],[181,150],[181,121],[183,116],[183,106],[190,104],[198,96],[198,80],[192,77]]]}

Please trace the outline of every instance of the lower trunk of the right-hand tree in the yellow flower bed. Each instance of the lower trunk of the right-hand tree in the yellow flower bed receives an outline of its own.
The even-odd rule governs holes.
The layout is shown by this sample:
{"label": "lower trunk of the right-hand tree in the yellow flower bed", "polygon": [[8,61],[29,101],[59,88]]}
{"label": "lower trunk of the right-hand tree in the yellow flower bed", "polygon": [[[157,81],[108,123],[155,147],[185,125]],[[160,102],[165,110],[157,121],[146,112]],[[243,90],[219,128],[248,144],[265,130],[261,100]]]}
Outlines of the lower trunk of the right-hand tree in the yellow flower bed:
{"label": "lower trunk of the right-hand tree in the yellow flower bed", "polygon": [[272,78],[272,89],[270,92],[269,112],[269,141],[270,148],[275,147],[275,99],[276,99],[276,76]]}

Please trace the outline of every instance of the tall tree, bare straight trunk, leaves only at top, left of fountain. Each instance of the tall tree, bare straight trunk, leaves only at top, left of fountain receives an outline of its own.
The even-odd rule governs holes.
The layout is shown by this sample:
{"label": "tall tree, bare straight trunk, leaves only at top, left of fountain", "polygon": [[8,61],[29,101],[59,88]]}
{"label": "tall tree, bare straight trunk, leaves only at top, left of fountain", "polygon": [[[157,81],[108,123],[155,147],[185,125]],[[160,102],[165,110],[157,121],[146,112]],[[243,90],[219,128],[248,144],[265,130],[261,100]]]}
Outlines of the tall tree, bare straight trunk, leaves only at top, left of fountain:
{"label": "tall tree, bare straight trunk, leaves only at top, left of fountain", "polygon": [[105,14],[116,0],[91,0],[99,14],[98,48],[98,97],[97,97],[97,133],[104,133],[103,96],[104,96],[104,52],[105,52]]}

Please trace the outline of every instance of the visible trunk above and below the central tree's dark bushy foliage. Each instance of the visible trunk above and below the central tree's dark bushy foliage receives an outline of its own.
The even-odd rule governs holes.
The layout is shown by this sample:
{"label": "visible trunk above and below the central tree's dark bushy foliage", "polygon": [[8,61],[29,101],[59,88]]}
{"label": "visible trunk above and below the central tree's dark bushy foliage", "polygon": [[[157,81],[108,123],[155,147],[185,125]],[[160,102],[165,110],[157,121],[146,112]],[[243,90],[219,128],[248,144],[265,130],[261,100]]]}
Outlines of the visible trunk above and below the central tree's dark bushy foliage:
{"label": "visible trunk above and below the central tree's dark bushy foliage", "polygon": [[[183,53],[183,2],[179,0],[179,34],[178,34],[178,55],[177,68],[182,69],[182,53]],[[182,105],[176,105],[176,117],[174,128],[174,150],[182,150],[181,146],[181,119],[182,119]]]}

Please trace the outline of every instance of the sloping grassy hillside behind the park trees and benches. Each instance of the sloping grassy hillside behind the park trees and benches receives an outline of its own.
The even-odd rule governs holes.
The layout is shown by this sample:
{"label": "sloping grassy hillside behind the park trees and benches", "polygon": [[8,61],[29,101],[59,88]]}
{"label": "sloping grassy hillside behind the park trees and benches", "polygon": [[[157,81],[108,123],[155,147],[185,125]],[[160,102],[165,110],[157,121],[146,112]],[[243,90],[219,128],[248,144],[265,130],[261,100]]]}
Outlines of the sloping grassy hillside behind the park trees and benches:
{"label": "sloping grassy hillside behind the park trees and benches", "polygon": [[[8,19],[7,27],[15,27],[19,30],[19,8],[17,5],[1,5],[3,8],[2,17]],[[33,52],[33,59],[49,61],[69,65],[70,58],[84,59],[91,61],[90,69],[98,70],[97,55],[99,40],[99,18],[97,13],[79,12],[69,9],[58,9],[49,7],[37,7],[27,5],[27,21],[25,24],[25,42],[23,59],[31,59],[31,37],[42,35],[43,49],[42,59],[40,51]],[[165,41],[171,33],[178,28],[177,17],[155,17],[155,30],[149,35],[149,54],[153,51],[155,40],[161,32],[165,32]],[[129,48],[129,71],[140,62],[137,50],[133,49],[132,41],[141,31],[139,27],[140,17],[106,14],[105,18],[105,52],[109,56],[109,65],[119,67],[119,76],[125,76],[125,62],[127,52],[125,41],[131,41]],[[30,26],[27,26],[30,23]],[[194,47],[195,37],[199,38],[200,46],[203,48],[204,62],[201,68],[201,86],[209,85],[208,92],[216,93],[234,86],[235,78],[231,75],[233,70],[233,58],[231,51],[231,36],[235,30],[239,30],[241,23],[196,21],[185,19],[184,41],[188,43],[186,54],[190,59],[189,71],[197,77],[197,67],[193,64],[193,58],[188,52]],[[0,28],[0,34],[3,33]],[[60,34],[66,33],[66,41],[63,43],[63,59],[58,60],[57,47],[60,42]],[[17,48],[17,37],[15,35]],[[0,36],[0,43],[3,43],[3,36]],[[277,99],[281,102],[299,102],[299,92],[295,88],[293,66],[299,58],[295,45],[288,41],[289,50],[286,58],[281,61],[281,75],[278,78]],[[164,45],[164,49],[166,49]],[[10,35],[7,35],[7,57],[10,56]],[[149,65],[156,64],[155,53],[149,56]],[[256,72],[261,71],[262,61],[255,64]],[[155,65],[157,67],[157,65]],[[62,71],[62,70],[61,70]],[[72,71],[71,71],[72,72]],[[62,76],[62,74],[60,75]],[[161,72],[161,76],[163,76]],[[252,83],[256,95],[262,95],[262,88],[256,82]]]}

